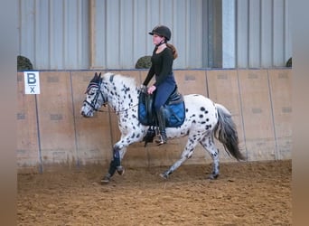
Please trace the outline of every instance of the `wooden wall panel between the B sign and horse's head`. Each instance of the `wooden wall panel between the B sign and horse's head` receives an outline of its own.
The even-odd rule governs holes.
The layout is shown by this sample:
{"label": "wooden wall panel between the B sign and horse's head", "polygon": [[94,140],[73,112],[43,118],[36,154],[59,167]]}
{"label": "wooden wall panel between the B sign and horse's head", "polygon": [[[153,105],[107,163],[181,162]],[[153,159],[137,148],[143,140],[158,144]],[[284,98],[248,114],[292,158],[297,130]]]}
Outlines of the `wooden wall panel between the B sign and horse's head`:
{"label": "wooden wall panel between the B sign and horse's head", "polygon": [[38,118],[42,164],[76,164],[70,72],[41,71]]}

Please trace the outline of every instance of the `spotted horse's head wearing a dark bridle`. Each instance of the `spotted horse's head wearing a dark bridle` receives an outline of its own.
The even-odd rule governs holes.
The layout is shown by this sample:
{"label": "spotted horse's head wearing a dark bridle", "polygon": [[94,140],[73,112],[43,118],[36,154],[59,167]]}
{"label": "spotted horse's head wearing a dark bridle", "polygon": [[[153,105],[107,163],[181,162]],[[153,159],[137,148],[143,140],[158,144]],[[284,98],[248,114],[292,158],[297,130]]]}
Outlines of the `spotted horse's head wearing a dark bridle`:
{"label": "spotted horse's head wearing a dark bridle", "polygon": [[80,114],[84,117],[93,117],[93,113],[98,111],[102,105],[105,105],[107,100],[104,98],[101,91],[102,78],[101,73],[95,73],[95,76],[90,80],[86,89],[86,99],[80,109]]}

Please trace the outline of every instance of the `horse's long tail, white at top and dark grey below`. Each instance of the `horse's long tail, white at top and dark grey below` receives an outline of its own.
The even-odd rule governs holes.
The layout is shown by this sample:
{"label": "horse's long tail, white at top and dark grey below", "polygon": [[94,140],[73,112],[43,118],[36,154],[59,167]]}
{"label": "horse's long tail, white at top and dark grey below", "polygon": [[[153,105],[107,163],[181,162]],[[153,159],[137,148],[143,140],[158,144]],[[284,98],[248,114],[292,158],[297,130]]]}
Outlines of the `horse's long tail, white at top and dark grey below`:
{"label": "horse's long tail, white at top and dark grey below", "polygon": [[214,136],[223,144],[229,155],[238,161],[245,160],[239,151],[239,135],[229,110],[220,104],[215,105],[218,109],[218,123],[214,128]]}

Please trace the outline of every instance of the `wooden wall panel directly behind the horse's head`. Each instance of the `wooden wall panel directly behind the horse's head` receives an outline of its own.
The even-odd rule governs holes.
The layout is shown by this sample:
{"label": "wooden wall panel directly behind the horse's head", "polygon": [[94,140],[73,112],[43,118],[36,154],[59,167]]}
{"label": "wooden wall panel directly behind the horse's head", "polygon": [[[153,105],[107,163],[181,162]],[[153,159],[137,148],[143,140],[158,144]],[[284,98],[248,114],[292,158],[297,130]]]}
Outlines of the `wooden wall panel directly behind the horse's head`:
{"label": "wooden wall panel directly behind the horse's head", "polygon": [[93,118],[80,115],[80,108],[86,98],[85,91],[94,74],[94,71],[71,72],[77,154],[81,165],[108,165],[112,156],[111,116],[108,107],[102,107],[104,112],[96,112]]}

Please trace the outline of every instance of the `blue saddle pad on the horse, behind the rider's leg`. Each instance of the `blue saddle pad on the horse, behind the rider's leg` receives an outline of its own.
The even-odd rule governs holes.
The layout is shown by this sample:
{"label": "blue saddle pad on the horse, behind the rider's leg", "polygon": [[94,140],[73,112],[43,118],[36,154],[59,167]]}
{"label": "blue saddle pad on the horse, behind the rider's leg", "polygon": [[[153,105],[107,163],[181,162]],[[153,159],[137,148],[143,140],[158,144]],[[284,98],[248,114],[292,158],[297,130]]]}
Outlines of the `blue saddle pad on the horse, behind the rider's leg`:
{"label": "blue saddle pad on the horse, behind the rider's leg", "polygon": [[[146,89],[141,89],[138,98],[138,120],[144,126],[158,127],[158,120],[154,107],[155,94],[148,94]],[[166,127],[180,127],[185,118],[183,95],[177,87],[164,104]]]}

